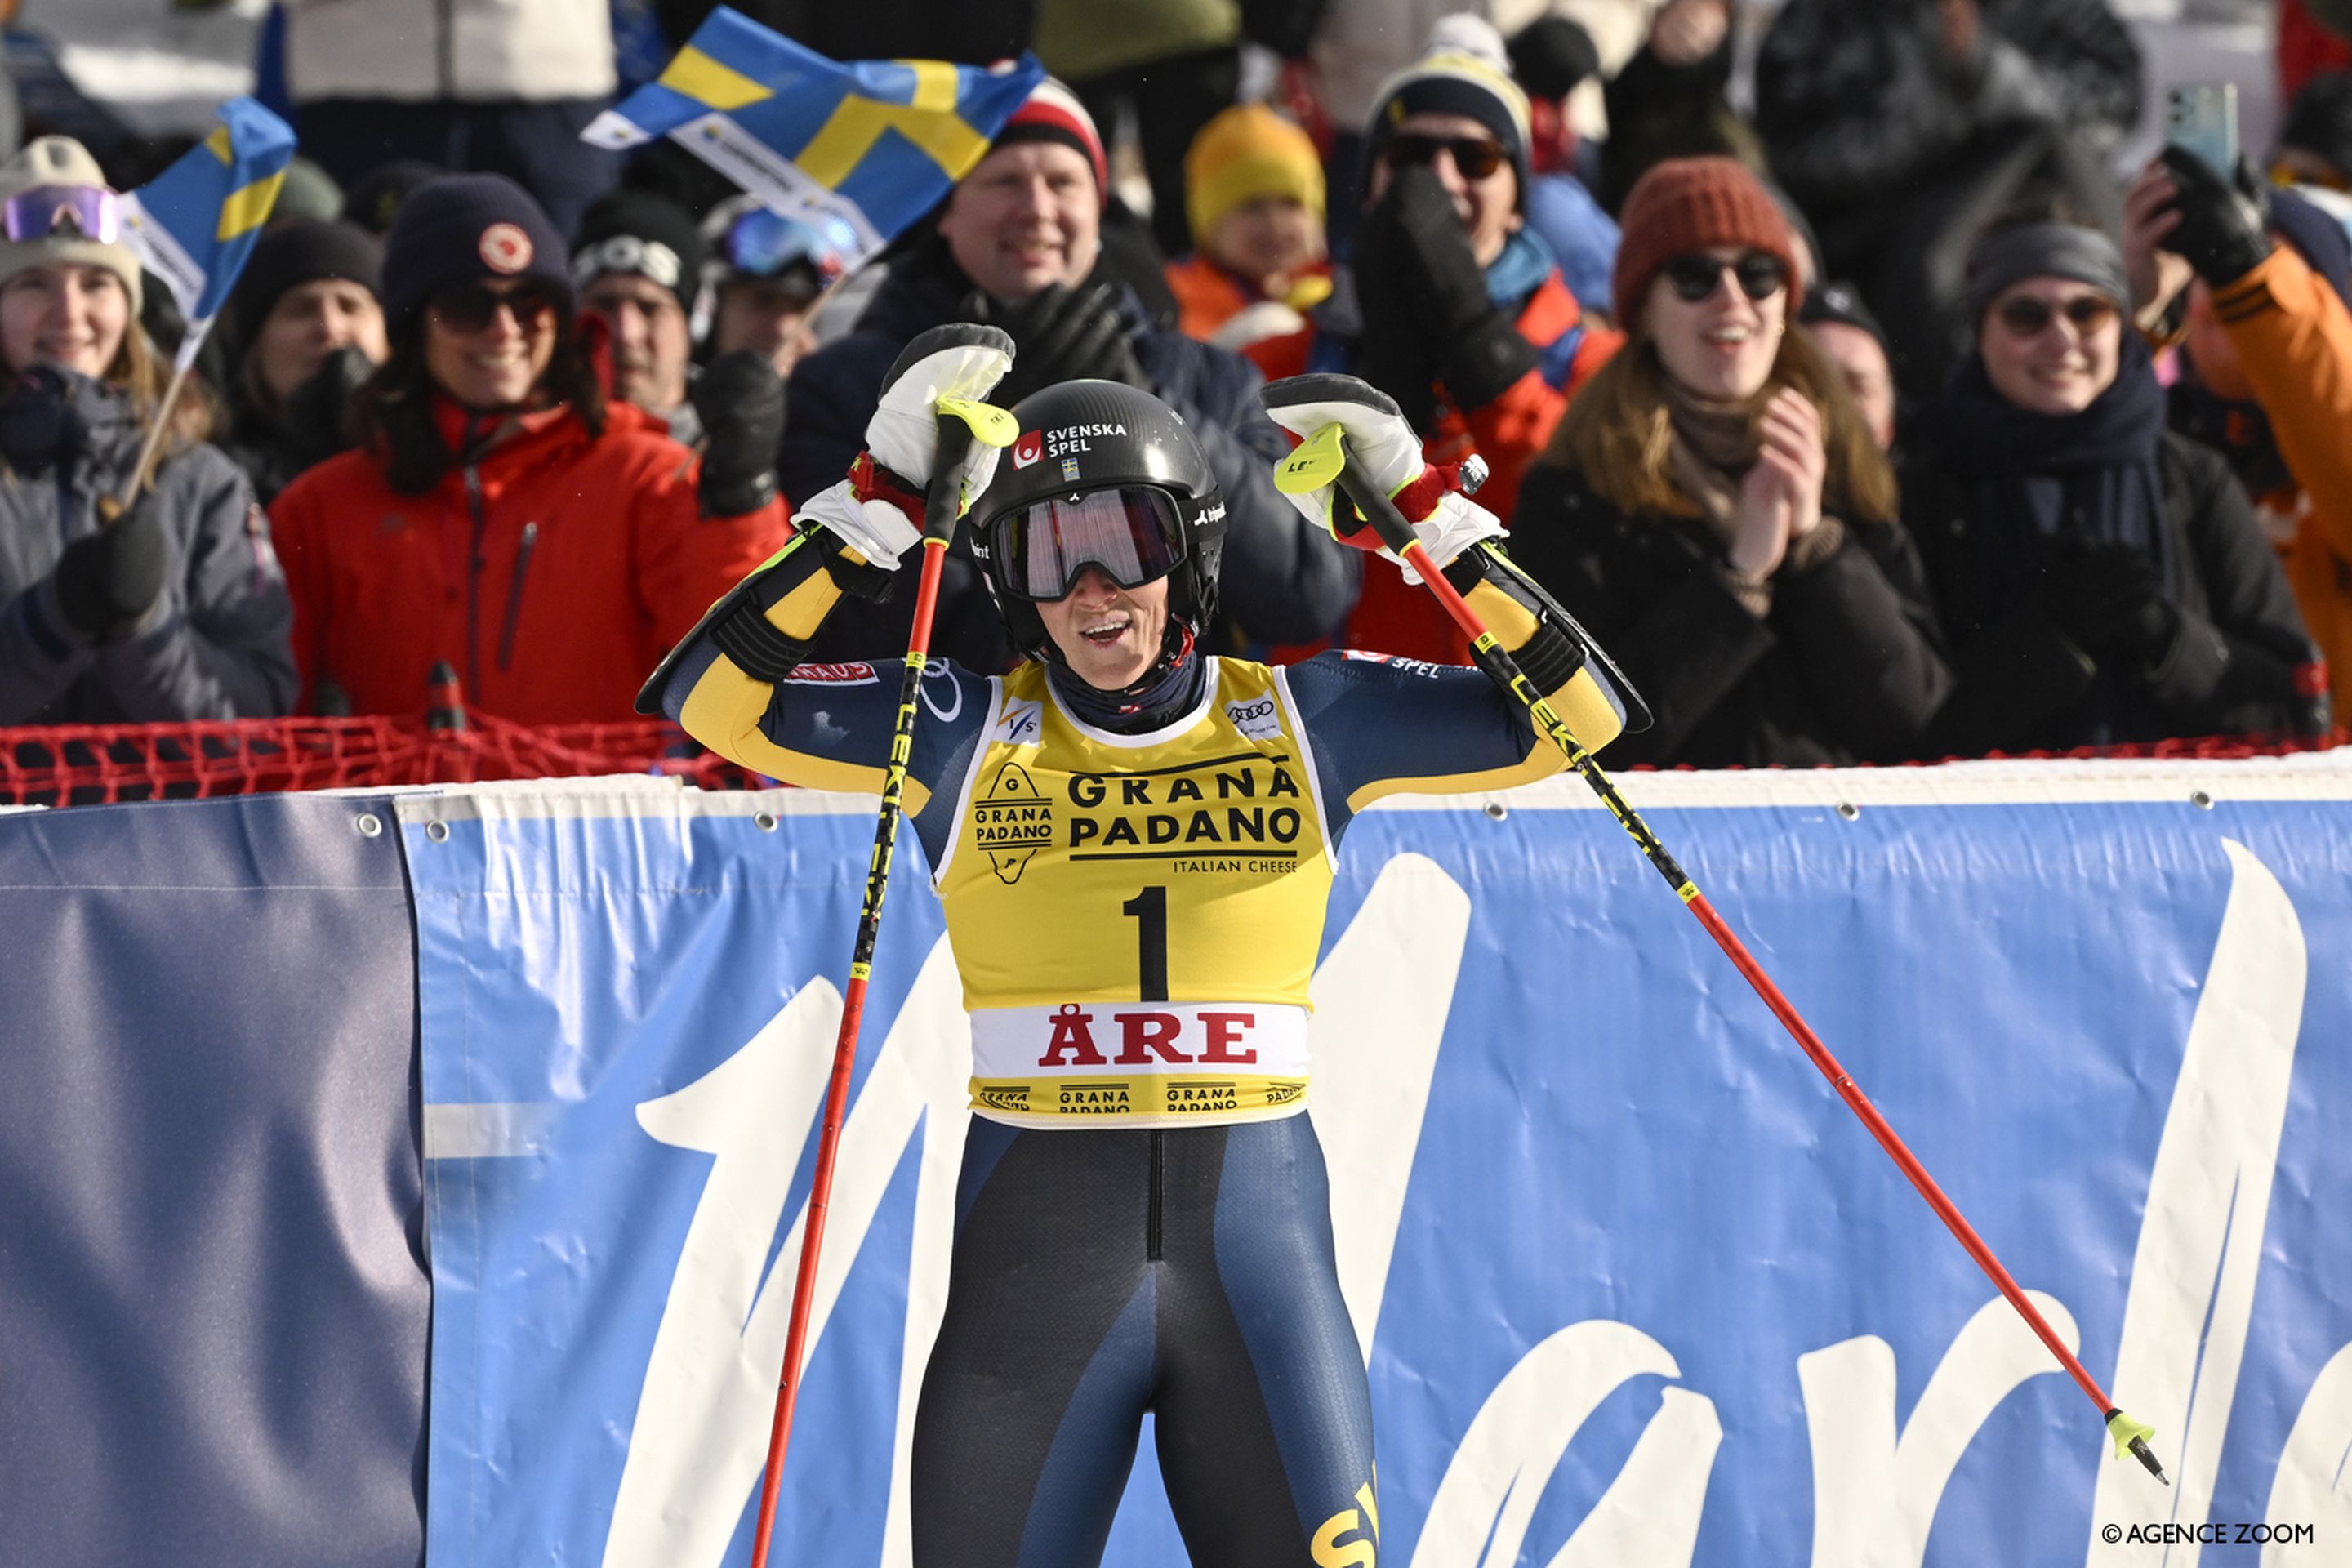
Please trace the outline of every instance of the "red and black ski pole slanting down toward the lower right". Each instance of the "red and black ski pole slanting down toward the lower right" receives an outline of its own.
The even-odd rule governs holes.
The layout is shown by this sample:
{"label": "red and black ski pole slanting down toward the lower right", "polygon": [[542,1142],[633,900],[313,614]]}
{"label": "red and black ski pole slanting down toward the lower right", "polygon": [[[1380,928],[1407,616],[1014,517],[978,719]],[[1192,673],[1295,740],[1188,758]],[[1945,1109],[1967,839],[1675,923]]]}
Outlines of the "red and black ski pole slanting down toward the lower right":
{"label": "red and black ski pole slanting down toward the lower right", "polygon": [[[1303,480],[1319,480],[1322,475],[1315,470],[1327,463],[1329,454],[1324,454],[1322,463],[1317,463],[1315,454],[1301,447],[1301,451],[1294,454],[1287,468],[1294,465],[1298,468],[1298,477],[1291,480],[1294,484],[1298,484]],[[1738,933],[1733,933],[1731,926],[1724,924],[1724,917],[1715,912],[1715,905],[1710,905],[1708,896],[1698,891],[1698,884],[1691,882],[1691,877],[1682,870],[1682,865],[1675,863],[1675,856],[1665,851],[1665,844],[1661,844],[1658,835],[1649,830],[1649,823],[1644,823],[1642,816],[1625,804],[1625,797],[1618,795],[1609,776],[1602,773],[1597,762],[1592,762],[1592,755],[1583,745],[1578,745],[1576,736],[1569,731],[1566,722],[1562,722],[1559,712],[1552,710],[1545,696],[1526,682],[1526,675],[1522,675],[1519,665],[1512,663],[1510,654],[1503,651],[1503,644],[1494,639],[1494,632],[1489,632],[1486,625],[1477,618],[1477,611],[1463,602],[1463,597],[1454,590],[1454,585],[1444,578],[1444,574],[1430,562],[1428,550],[1421,548],[1421,541],[1414,536],[1411,524],[1404,522],[1404,512],[1397,510],[1397,503],[1390,501],[1369,477],[1364,477],[1364,470],[1350,461],[1345,437],[1338,440],[1336,482],[1348,494],[1348,501],[1355,503],[1355,510],[1359,510],[1364,520],[1371,522],[1371,527],[1381,534],[1381,543],[1385,543],[1392,552],[1404,557],[1406,564],[1411,564],[1411,569],[1421,576],[1421,583],[1446,609],[1446,616],[1454,618],[1454,625],[1458,625],[1463,635],[1470,637],[1472,656],[1477,658],[1479,668],[1498,686],[1503,686],[1515,698],[1519,698],[1519,703],[1526,705],[1526,712],[1534,717],[1536,729],[1543,731],[1552,741],[1552,745],[1557,745],[1566,755],[1569,764],[1578,773],[1583,773],[1585,783],[1592,785],[1592,792],[1602,797],[1604,806],[1609,806],[1609,816],[1613,816],[1618,825],[1628,835],[1632,835],[1632,842],[1642,846],[1642,853],[1649,856],[1649,863],[1653,867],[1658,867],[1658,875],[1665,877],[1665,884],[1675,889],[1675,896],[1682,898],[1684,905],[1689,905],[1691,914],[1698,917],[1698,924],[1705,926],[1708,936],[1715,938],[1715,945],[1722,947],[1724,957],[1731,959],[1731,966],[1738,969],[1740,976],[1745,976],[1748,985],[1752,985],[1757,997],[1764,999],[1764,1006],[1773,1011],[1773,1018],[1778,1018],[1780,1027],[1790,1032],[1790,1039],[1795,1039],[1804,1048],[1804,1053],[1820,1070],[1820,1077],[1830,1079],[1830,1088],[1835,1088],[1837,1098],[1846,1103],[1846,1110],[1860,1117],[1863,1126],[1870,1128],[1870,1135],[1879,1140],[1879,1147],[1886,1150],[1889,1159],[1893,1159],[1896,1166],[1900,1166],[1903,1175],[1910,1178],[1910,1185],[1919,1190],[1922,1199],[1926,1199],[1926,1206],[1936,1211],[1936,1218],[1945,1222],[1945,1229],[1950,1229],[1952,1237],[1962,1244],[1962,1248],[1966,1248],[1969,1258],[1976,1258],[1976,1267],[1980,1267],[1985,1276],[1992,1279],[1992,1284],[2002,1291],[2002,1295],[2009,1298],[2009,1305],[2018,1309],[2018,1316],[2025,1319],[2027,1328],[2032,1328],[2042,1338],[2042,1342],[2049,1345],[2049,1352],[2058,1356],[2058,1366],[2063,1366],[2067,1375],[2074,1378],[2074,1385],[2082,1387],[2082,1392],[2098,1408],[2100,1420],[2107,1422],[2107,1434],[2114,1439],[2117,1458],[2131,1453],[2136,1460],[2140,1460],[2140,1465],[2147,1467],[2147,1474],[2171,1486],[2171,1476],[2164,1474],[2164,1467],[2157,1462],[2154,1450],[2147,1446],[2147,1439],[2154,1436],[2154,1429],[2143,1427],[2140,1422],[2124,1415],[2114,1406],[2114,1401],[2107,1399],[2107,1392],[2098,1387],[2091,1373],[2084,1371],[2082,1359],[2077,1359],[2074,1352],[2065,1347],[2065,1340],[2058,1338],[2058,1333],[2049,1326],[2042,1312],[2034,1309],[2030,1300],[2025,1300],[2025,1291],[2018,1288],[2018,1281],[2011,1279],[2009,1269],[2002,1267],[2002,1260],[1992,1255],[1992,1248],[1985,1246],[1983,1237],[1976,1234],[1976,1229],[1962,1218],[1952,1199],[1943,1194],[1943,1187],[1936,1185],[1936,1178],[1926,1173],[1926,1166],[1919,1164],[1919,1159],[1910,1152],[1903,1138],[1896,1135],[1893,1126],[1886,1124],[1886,1117],[1882,1117],[1879,1107],[1870,1103],[1870,1095],[1865,1095],[1860,1086],[1853,1081],[1853,1077],[1837,1065],[1837,1058],[1830,1056],[1830,1048],[1825,1044],[1820,1044],[1820,1034],[1813,1032],[1813,1025],[1809,1025],[1804,1016],[1797,1011],[1797,1006],[1785,994],[1780,994],[1780,987],[1773,985],[1771,976],[1764,973],[1764,966],[1757,964],[1752,952],[1748,952],[1748,945],[1738,938]]]}

